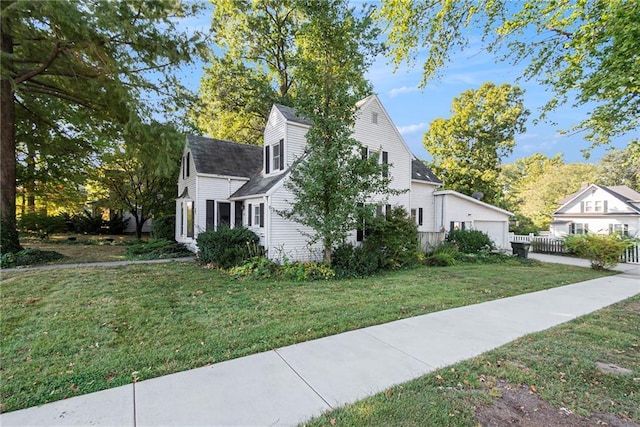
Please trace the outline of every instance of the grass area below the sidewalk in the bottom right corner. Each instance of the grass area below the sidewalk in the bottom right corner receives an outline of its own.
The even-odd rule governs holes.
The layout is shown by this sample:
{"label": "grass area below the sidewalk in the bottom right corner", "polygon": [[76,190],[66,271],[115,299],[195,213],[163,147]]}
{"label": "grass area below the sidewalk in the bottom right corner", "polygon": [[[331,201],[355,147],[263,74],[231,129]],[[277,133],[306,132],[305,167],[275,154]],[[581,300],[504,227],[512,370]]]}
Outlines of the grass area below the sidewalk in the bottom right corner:
{"label": "grass area below the sidewalk in the bottom right corner", "polygon": [[[615,414],[639,423],[639,331],[637,296],[328,412],[306,425],[476,426],[474,407],[500,396],[500,381],[527,385],[556,409],[568,408],[585,417]],[[603,374],[596,362],[633,373]]]}

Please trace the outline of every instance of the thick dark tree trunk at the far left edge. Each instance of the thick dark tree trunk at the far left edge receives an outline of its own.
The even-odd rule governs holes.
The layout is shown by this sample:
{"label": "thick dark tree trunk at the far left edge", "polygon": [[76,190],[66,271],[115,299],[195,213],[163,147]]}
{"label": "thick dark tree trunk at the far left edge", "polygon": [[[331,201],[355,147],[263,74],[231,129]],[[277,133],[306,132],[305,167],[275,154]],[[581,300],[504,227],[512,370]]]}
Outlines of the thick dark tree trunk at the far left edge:
{"label": "thick dark tree trunk at the far left edge", "polygon": [[[0,51],[13,53],[9,19],[0,20]],[[16,113],[11,80],[0,78],[0,252],[20,250],[16,229]]]}

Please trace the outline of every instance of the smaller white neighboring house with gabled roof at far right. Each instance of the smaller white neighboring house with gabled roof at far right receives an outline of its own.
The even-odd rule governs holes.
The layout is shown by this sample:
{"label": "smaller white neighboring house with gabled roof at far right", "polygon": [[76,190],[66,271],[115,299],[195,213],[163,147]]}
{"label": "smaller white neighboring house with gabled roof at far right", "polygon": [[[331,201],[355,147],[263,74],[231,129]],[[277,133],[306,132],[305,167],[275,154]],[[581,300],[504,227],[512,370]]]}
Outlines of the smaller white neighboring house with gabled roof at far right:
{"label": "smaller white neighboring house with gabled roof at far right", "polygon": [[640,193],[627,186],[583,185],[560,205],[553,213],[552,236],[619,232],[640,237]]}

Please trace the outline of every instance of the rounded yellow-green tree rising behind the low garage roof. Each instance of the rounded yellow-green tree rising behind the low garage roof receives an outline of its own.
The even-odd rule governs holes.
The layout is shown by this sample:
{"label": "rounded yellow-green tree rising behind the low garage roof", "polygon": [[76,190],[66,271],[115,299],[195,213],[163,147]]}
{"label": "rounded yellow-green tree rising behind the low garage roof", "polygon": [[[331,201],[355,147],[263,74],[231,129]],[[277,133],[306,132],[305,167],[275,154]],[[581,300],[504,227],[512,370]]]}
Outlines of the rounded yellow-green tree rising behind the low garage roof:
{"label": "rounded yellow-green tree rising behind the low garage roof", "polygon": [[431,123],[424,146],[445,188],[468,195],[479,191],[485,201],[497,201],[502,157],[513,151],[515,134],[524,132],[529,114],[522,95],[517,86],[485,83],[454,98],[451,118]]}

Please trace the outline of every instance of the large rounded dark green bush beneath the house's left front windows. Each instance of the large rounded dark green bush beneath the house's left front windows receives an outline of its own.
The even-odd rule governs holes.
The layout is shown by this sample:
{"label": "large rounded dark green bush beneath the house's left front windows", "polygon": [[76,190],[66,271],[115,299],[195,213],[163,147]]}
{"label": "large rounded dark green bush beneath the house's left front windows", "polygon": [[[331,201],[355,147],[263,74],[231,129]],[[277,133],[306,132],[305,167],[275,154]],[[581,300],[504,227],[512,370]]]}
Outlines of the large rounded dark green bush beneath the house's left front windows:
{"label": "large rounded dark green bush beneath the house's left front windows", "polygon": [[220,268],[242,265],[259,254],[260,238],[244,227],[220,227],[216,231],[198,234],[198,261]]}

